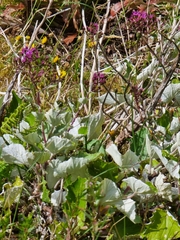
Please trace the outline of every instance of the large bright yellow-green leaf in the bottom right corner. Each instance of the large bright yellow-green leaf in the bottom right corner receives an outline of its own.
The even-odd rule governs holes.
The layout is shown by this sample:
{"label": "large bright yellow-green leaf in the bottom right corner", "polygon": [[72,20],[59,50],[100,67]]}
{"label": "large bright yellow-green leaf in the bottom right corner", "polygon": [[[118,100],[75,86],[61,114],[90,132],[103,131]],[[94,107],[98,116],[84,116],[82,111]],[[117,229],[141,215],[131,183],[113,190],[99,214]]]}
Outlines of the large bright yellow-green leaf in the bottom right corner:
{"label": "large bright yellow-green leaf in the bottom right corner", "polygon": [[157,209],[141,234],[148,240],[171,240],[180,238],[180,225],[167,210]]}

